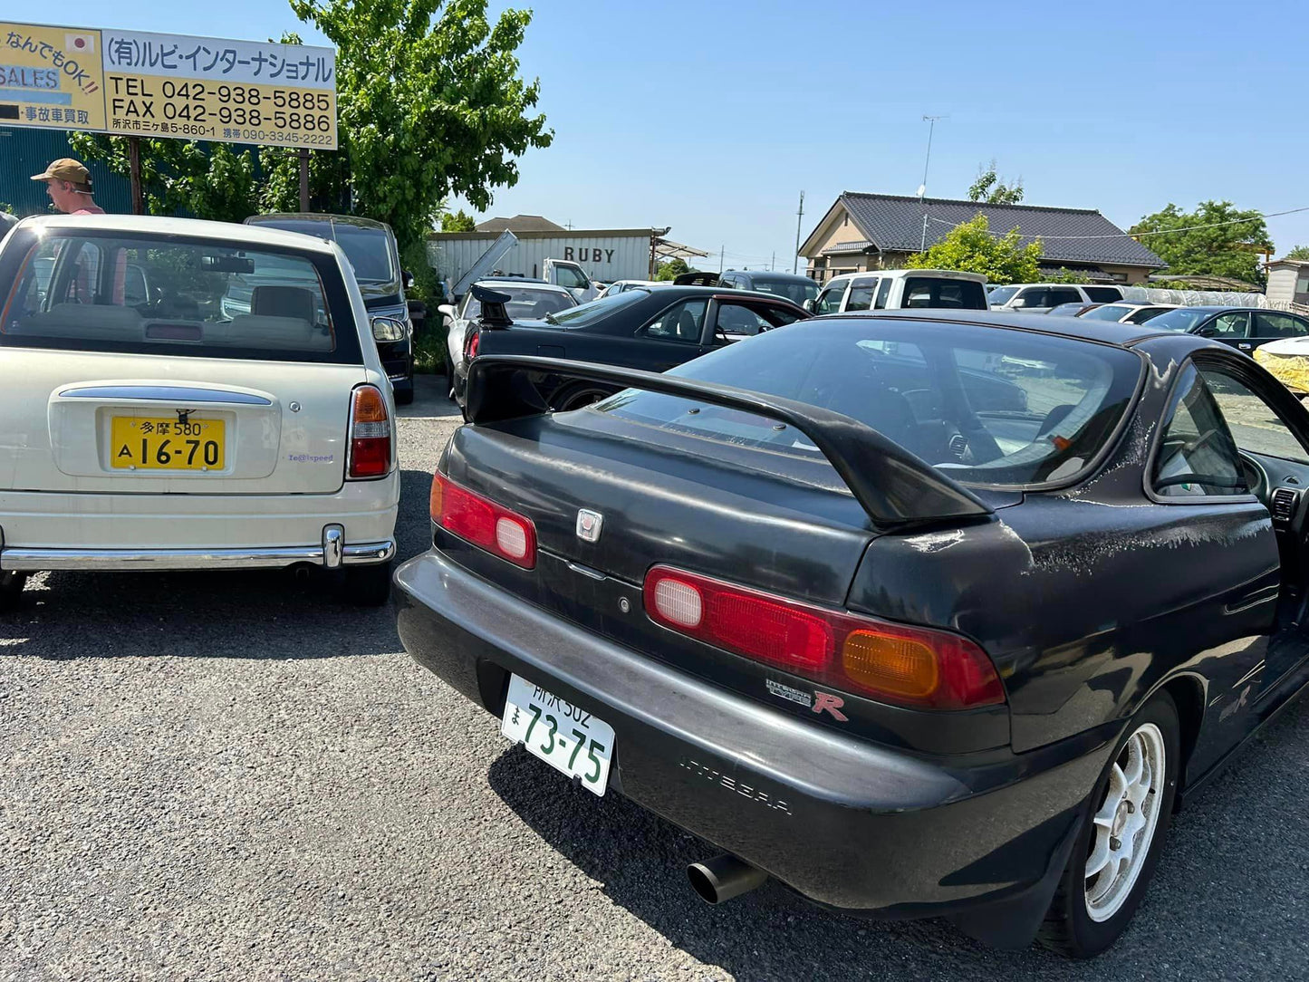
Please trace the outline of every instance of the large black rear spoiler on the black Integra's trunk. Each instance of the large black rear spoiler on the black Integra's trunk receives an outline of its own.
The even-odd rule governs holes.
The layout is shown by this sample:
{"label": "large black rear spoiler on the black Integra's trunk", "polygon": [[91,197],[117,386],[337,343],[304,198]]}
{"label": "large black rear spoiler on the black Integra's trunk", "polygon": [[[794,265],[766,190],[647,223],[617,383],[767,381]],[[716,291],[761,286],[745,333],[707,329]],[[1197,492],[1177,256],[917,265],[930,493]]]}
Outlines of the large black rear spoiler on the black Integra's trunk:
{"label": "large black rear spoiler on the black Integra's trunk", "polygon": [[827,458],[878,526],[979,518],[994,511],[931,464],[857,419],[795,399],[657,372],[529,355],[479,355],[469,361],[465,410],[469,422],[478,426],[548,412],[529,373],[677,395],[795,427]]}

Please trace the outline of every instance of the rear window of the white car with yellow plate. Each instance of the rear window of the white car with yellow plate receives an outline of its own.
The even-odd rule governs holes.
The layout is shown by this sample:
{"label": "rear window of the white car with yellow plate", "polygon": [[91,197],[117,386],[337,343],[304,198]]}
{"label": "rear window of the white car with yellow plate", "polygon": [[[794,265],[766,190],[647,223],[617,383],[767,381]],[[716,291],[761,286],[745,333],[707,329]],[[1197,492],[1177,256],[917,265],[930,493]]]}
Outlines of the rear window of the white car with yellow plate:
{"label": "rear window of the white car with yellow plate", "polygon": [[359,364],[330,257],[242,242],[51,229],[5,244],[0,344]]}

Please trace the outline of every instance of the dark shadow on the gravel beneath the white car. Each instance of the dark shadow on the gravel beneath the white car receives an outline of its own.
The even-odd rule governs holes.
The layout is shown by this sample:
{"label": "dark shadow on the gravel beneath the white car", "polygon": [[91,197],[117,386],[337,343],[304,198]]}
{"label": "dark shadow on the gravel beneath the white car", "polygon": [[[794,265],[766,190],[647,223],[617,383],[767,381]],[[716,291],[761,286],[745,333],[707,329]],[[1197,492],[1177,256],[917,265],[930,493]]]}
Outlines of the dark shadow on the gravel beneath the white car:
{"label": "dark shadow on the gravel beneath the white car", "polygon": [[[397,563],[431,545],[432,475],[401,474]],[[46,659],[314,659],[401,651],[390,606],[355,606],[319,570],[48,572],[0,615],[0,653]]]}

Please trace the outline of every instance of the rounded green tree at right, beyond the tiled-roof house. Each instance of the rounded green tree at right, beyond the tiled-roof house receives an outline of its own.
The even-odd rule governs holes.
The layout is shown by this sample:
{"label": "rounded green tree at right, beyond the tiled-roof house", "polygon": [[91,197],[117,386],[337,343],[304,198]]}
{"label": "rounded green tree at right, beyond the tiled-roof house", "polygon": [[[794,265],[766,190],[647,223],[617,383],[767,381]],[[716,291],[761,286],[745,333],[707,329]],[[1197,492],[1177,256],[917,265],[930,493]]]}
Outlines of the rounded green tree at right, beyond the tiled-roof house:
{"label": "rounded green tree at right, beyond the tiled-roof house", "polygon": [[1168,263],[1166,272],[1177,276],[1229,276],[1263,285],[1259,253],[1272,250],[1261,213],[1242,211],[1232,202],[1200,202],[1194,212],[1169,204],[1128,232],[1166,233],[1140,241]]}

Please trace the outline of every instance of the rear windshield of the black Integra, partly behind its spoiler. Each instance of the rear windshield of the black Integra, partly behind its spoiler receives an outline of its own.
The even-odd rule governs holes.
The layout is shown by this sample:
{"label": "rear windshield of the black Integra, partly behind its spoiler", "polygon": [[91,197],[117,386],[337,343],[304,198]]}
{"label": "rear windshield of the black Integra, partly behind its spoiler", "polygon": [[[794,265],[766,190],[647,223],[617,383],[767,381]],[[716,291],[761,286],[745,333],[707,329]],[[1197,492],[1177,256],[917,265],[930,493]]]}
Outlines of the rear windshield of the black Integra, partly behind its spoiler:
{"label": "rear windshield of the black Integra, partly behind its spoiler", "polygon": [[[956,481],[1026,487],[1072,479],[1092,464],[1132,401],[1141,360],[1068,338],[886,318],[779,327],[670,374],[822,406],[868,424]],[[821,460],[791,427],[691,399],[628,389],[594,409]]]}

